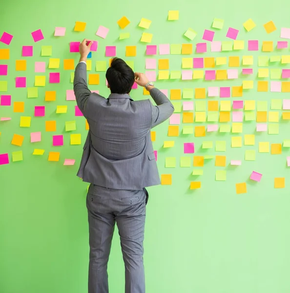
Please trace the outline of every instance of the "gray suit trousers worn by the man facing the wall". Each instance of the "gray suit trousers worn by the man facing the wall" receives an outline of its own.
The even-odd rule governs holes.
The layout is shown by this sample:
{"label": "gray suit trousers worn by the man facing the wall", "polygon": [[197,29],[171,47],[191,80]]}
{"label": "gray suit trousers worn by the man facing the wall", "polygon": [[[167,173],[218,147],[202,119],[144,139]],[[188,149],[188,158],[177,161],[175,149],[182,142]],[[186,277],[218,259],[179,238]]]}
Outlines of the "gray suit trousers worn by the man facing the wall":
{"label": "gray suit trousers worn by the man facing the wall", "polygon": [[145,200],[144,189],[90,185],[86,198],[90,245],[88,293],[109,292],[107,263],[116,222],[125,264],[125,293],[145,293]]}

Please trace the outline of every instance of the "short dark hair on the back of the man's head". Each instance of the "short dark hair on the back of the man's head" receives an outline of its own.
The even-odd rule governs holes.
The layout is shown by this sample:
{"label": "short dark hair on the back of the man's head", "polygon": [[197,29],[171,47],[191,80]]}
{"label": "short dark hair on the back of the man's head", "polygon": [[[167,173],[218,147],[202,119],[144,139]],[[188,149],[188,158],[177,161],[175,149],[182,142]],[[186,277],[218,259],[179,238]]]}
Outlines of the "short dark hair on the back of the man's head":
{"label": "short dark hair on the back of the man's head", "polygon": [[135,81],[134,71],[121,58],[113,58],[106,72],[111,93],[128,94]]}

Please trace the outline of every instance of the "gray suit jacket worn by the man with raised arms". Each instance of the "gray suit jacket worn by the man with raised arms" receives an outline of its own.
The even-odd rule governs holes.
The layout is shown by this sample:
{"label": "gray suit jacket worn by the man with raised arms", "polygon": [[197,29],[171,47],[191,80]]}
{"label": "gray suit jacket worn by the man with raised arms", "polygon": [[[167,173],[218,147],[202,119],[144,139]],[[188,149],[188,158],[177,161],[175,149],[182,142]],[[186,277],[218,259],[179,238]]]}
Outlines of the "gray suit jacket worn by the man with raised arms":
{"label": "gray suit jacket worn by the man with raised arms", "polygon": [[78,176],[106,188],[141,190],[160,184],[150,129],[173,113],[171,102],[157,88],[150,100],[133,101],[128,94],[107,99],[87,87],[86,64],[75,70],[77,104],[89,124]]}

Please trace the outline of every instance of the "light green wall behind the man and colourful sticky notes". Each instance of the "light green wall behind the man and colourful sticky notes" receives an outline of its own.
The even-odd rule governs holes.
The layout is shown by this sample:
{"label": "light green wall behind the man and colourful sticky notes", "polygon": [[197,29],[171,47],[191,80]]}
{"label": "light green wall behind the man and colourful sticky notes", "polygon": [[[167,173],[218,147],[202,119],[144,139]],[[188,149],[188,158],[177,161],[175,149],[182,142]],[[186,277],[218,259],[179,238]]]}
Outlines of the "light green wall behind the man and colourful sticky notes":
{"label": "light green wall behind the man and colourful sticky notes", "polygon": [[[180,19],[168,22],[167,11],[179,10]],[[116,23],[122,16],[131,23],[124,31],[131,33],[128,40],[118,40],[120,29]],[[0,34],[7,31],[14,35],[10,48],[10,60],[0,61],[9,65],[7,94],[14,101],[25,102],[24,113],[14,113],[13,106],[0,106],[0,117],[12,117],[0,122],[0,153],[22,150],[22,162],[10,162],[0,166],[0,292],[3,293],[84,293],[87,286],[88,228],[85,208],[87,184],[75,176],[82,154],[81,146],[69,145],[69,134],[64,122],[76,120],[77,130],[85,140],[83,117],[74,116],[74,102],[65,101],[65,90],[71,89],[70,71],[62,70],[62,60],[78,54],[69,53],[68,43],[93,39],[98,26],[110,28],[105,40],[98,37],[99,49],[93,52],[92,73],[96,60],[104,57],[105,45],[117,45],[117,55],[125,60],[134,60],[136,71],[145,71],[145,44],[140,42],[143,29],[138,27],[142,17],[152,21],[148,32],[153,33],[152,44],[186,43],[183,34],[188,27],[198,33],[193,41],[201,42],[204,29],[210,29],[213,18],[225,20],[224,28],[216,31],[214,40],[226,41],[229,26],[240,30],[239,40],[274,41],[280,37],[280,28],[289,27],[289,1],[2,1],[0,9]],[[256,28],[247,33],[243,22],[252,18]],[[267,34],[263,24],[273,20],[277,30]],[[86,21],[85,32],[73,31],[75,21]],[[62,38],[53,36],[55,26],[66,27]],[[41,28],[45,39],[33,43],[30,33]],[[282,41],[282,40],[281,40]],[[16,72],[15,60],[21,58],[21,46],[34,45],[34,56],[27,58],[27,71]],[[41,57],[41,45],[52,45],[54,58],[61,59],[61,84],[49,84],[39,89],[37,99],[27,99],[25,88],[15,88],[16,76],[27,76],[27,86],[34,83],[34,62],[48,61]],[[137,57],[125,58],[125,45],[137,45]],[[7,46],[0,43],[0,48]],[[261,46],[260,46],[261,47]],[[257,56],[281,55],[259,52],[235,51],[230,53],[206,53],[201,56],[243,56],[255,58],[254,88],[244,92],[245,100],[268,101],[287,99],[289,93],[257,93]],[[283,51],[289,54],[289,48]],[[72,57],[73,56],[73,57]],[[159,56],[155,56],[159,58]],[[168,55],[170,70],[181,70],[181,55]],[[275,66],[274,66],[275,67]],[[276,66],[278,67],[278,66]],[[287,67],[287,66],[286,66]],[[222,68],[227,68],[222,67]],[[271,67],[269,67],[271,68]],[[285,66],[283,67],[285,68]],[[215,68],[216,69],[216,68]],[[45,75],[48,78],[46,69]],[[241,71],[241,67],[239,68]],[[241,85],[240,80],[215,82],[212,85]],[[207,87],[201,81],[158,81],[163,89]],[[45,90],[57,90],[56,102],[44,102]],[[101,84],[91,89],[100,89],[106,96],[104,73]],[[0,93],[5,94],[5,93]],[[134,99],[143,99],[142,89],[132,92]],[[206,99],[207,100],[207,99]],[[218,99],[220,100],[220,99]],[[231,98],[232,100],[232,98]],[[46,106],[45,118],[34,118],[35,105]],[[57,116],[56,105],[68,105],[67,114]],[[280,114],[282,111],[279,111]],[[32,116],[30,128],[20,128],[20,116]],[[45,120],[57,120],[57,131],[45,132]],[[205,138],[180,135],[174,148],[163,149],[167,137],[168,122],[156,128],[154,149],[158,150],[160,174],[172,174],[172,186],[149,188],[150,201],[147,208],[145,232],[145,269],[148,293],[289,293],[290,230],[289,230],[289,180],[290,168],[286,157],[289,148],[281,155],[258,152],[258,142],[282,143],[289,139],[289,123],[280,121],[279,134],[256,133],[256,123],[244,122],[243,133],[255,134],[255,146],[231,148],[231,133],[207,133]],[[182,128],[182,124],[180,126]],[[30,132],[41,131],[42,141],[30,143]],[[14,133],[25,137],[23,145],[10,144]],[[64,146],[52,146],[52,134],[64,135]],[[226,153],[216,153],[214,148],[202,150],[203,141],[227,141]],[[191,175],[193,167],[180,168],[183,143],[194,142],[196,155],[227,156],[227,181],[215,181],[214,160],[209,160],[204,175]],[[32,156],[34,148],[43,148],[43,156]],[[48,152],[61,152],[59,162],[48,162]],[[245,150],[255,149],[256,160],[244,161]],[[165,158],[175,156],[176,168],[165,168]],[[65,158],[75,158],[72,167],[62,166]],[[192,158],[192,156],[191,156]],[[231,167],[231,159],[242,160],[242,166]],[[249,180],[255,170],[263,173],[261,182]],[[125,174],[124,174],[125,175]],[[274,177],[285,177],[286,188],[274,189]],[[191,181],[201,181],[202,187],[189,190]],[[235,184],[246,182],[248,192],[236,194]],[[114,236],[109,261],[110,292],[123,292],[124,265],[119,238]]]}

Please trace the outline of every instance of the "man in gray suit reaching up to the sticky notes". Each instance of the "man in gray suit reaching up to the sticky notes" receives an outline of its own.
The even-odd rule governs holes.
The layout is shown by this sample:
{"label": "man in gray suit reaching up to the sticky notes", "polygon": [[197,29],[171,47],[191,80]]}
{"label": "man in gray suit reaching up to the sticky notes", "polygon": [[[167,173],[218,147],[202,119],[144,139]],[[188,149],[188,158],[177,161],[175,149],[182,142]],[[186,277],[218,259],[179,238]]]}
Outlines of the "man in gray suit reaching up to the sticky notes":
{"label": "man in gray suit reaching up to the sticky notes", "polygon": [[[107,99],[87,87],[86,57],[92,42],[80,44],[75,70],[77,104],[89,124],[78,176],[90,183],[86,198],[89,223],[89,293],[108,293],[107,263],[115,223],[125,264],[125,293],[145,293],[143,240],[145,187],[159,185],[150,129],[168,119],[173,105],[143,73],[114,58],[106,72],[111,94]],[[136,82],[150,100],[133,101]]]}

